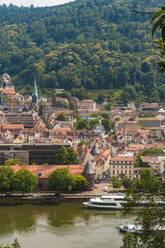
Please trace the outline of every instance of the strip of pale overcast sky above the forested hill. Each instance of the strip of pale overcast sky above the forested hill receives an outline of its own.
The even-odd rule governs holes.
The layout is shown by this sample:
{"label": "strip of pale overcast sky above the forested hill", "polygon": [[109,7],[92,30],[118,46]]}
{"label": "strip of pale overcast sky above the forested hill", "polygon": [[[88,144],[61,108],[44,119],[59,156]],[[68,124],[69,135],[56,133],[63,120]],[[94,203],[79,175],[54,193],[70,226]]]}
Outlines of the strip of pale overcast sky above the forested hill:
{"label": "strip of pale overcast sky above the forested hill", "polygon": [[9,5],[10,3],[18,6],[53,6],[59,5],[63,3],[73,2],[74,0],[0,0],[0,5],[6,4]]}

